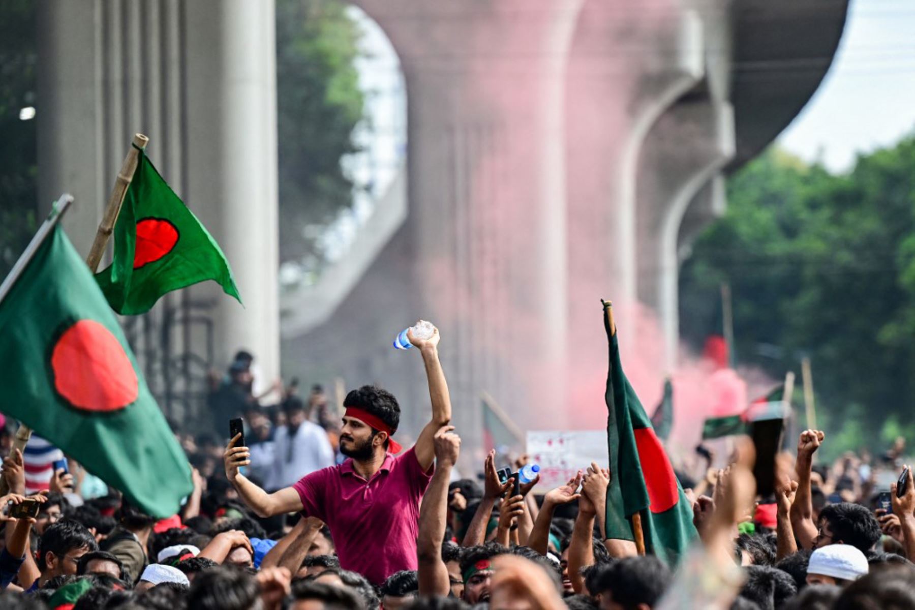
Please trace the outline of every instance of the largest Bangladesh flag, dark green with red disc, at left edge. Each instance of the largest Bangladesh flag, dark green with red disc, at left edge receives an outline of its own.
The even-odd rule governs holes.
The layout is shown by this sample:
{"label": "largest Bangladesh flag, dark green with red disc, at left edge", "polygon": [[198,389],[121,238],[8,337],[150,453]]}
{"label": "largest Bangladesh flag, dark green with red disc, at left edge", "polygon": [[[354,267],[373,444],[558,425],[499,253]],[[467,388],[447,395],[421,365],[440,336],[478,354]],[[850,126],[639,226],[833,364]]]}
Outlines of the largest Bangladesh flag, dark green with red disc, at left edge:
{"label": "largest Bangladesh flag, dark green with red disc, at left edge", "polygon": [[0,411],[152,516],[178,512],[188,459],[86,263],[56,227],[0,303]]}

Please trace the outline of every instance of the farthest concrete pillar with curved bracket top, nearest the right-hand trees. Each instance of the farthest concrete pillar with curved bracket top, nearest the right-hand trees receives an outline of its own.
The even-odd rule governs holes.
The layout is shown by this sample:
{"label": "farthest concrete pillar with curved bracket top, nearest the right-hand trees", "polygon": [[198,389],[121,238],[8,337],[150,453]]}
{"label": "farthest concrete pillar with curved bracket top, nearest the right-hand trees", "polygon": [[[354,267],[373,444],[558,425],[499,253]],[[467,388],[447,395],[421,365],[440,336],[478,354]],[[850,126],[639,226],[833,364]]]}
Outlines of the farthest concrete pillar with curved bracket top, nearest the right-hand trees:
{"label": "farthest concrete pillar with curved bracket top, nearest the right-hand trees", "polygon": [[[727,102],[696,95],[665,112],[642,151],[639,181],[639,298],[660,319],[664,365],[677,364],[677,276],[681,222],[696,195],[733,158],[734,112]],[[714,191],[708,191],[714,194]]]}

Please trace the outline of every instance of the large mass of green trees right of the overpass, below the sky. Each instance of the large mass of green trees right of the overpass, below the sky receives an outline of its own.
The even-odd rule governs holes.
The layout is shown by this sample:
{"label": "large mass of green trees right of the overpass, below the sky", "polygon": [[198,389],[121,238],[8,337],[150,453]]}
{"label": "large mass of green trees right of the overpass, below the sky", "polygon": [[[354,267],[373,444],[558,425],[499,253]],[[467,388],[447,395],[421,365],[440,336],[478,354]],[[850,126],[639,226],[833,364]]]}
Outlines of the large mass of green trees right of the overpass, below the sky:
{"label": "large mass of green trees right of the overpass, below the sky", "polygon": [[817,412],[848,442],[915,432],[915,137],[840,175],[771,149],[727,190],[681,273],[687,340],[719,332],[728,282],[740,363],[779,378],[810,356]]}

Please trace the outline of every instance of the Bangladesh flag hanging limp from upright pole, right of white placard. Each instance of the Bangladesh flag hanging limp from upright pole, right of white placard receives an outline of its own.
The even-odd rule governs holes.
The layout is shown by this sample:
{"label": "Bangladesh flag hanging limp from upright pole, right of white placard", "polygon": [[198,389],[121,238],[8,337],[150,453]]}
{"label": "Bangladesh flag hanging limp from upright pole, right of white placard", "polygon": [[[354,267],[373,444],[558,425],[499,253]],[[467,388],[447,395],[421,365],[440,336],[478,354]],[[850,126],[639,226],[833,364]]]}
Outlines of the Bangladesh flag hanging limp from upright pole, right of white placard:
{"label": "Bangladesh flag hanging limp from upright pole, right of white placard", "polygon": [[651,428],[619,361],[617,329],[604,304],[609,340],[607,441],[610,485],[607,490],[607,537],[634,540],[632,516],[641,516],[645,551],[675,565],[698,536],[693,507],[673,474],[673,466]]}

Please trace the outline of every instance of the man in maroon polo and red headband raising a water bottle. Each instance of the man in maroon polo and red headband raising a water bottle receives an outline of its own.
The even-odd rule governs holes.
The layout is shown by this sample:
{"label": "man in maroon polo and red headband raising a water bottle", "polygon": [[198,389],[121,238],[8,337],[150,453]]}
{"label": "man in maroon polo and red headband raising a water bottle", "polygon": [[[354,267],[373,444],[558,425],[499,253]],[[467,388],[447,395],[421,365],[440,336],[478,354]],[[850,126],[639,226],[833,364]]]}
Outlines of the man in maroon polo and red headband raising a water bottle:
{"label": "man in maroon polo and red headband raising a water bottle", "polygon": [[343,401],[340,452],[349,457],[343,464],[268,494],[239,473],[251,461],[247,447],[234,446],[237,437],[224,456],[226,476],[257,515],[301,510],[323,520],[337,546],[340,567],[374,584],[417,568],[419,501],[432,477],[435,434],[451,420],[447,382],[438,361],[438,329],[426,340],[412,333],[409,338],[423,357],[432,399],[432,420],[412,449],[401,454],[401,445],[392,438],[400,423],[397,400],[390,392],[363,386]]}

